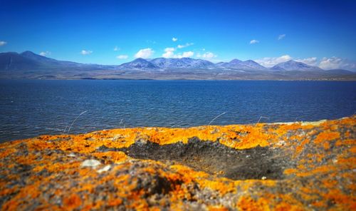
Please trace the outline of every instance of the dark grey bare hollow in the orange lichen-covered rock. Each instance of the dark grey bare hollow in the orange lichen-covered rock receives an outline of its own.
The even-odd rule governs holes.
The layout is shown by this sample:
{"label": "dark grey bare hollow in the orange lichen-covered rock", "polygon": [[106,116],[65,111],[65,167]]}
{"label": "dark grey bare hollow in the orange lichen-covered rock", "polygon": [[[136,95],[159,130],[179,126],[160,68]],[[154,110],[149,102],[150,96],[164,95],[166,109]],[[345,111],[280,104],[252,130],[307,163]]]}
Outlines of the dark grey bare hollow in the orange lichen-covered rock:
{"label": "dark grey bare hollow in the orange lichen-covered rock", "polygon": [[150,141],[137,141],[128,148],[107,148],[103,145],[98,151],[121,151],[131,158],[159,160],[169,165],[178,163],[232,180],[283,179],[283,170],[292,168],[294,163],[280,148],[257,146],[239,150],[219,141],[199,140],[196,137],[190,138],[188,143],[167,145]]}

